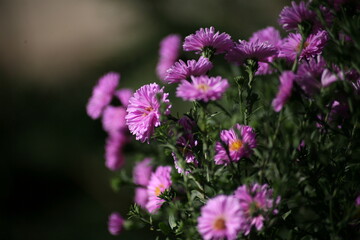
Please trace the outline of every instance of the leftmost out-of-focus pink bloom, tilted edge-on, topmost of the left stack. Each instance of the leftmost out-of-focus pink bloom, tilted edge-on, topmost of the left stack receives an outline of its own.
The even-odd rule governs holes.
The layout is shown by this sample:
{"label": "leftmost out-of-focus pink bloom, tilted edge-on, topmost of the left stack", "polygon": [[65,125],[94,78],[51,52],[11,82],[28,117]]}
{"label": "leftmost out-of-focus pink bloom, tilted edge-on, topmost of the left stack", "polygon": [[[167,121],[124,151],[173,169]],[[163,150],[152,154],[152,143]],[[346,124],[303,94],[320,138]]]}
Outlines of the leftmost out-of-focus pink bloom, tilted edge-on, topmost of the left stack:
{"label": "leftmost out-of-focus pink bloom, tilted edge-on, topmost of the left stack", "polygon": [[104,108],[111,102],[119,80],[120,75],[114,72],[109,72],[99,79],[86,106],[87,114],[92,119],[99,118]]}

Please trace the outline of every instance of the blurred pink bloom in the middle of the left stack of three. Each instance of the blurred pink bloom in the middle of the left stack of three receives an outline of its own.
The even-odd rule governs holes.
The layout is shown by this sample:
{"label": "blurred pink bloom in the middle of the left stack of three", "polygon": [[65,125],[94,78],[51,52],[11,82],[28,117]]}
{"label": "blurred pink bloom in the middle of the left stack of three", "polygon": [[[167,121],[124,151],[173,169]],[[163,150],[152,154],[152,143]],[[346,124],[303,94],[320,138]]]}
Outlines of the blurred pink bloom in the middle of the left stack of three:
{"label": "blurred pink bloom in the middle of the left stack of three", "polygon": [[126,128],[126,110],[123,107],[107,106],[103,113],[102,124],[109,134],[116,134]]}

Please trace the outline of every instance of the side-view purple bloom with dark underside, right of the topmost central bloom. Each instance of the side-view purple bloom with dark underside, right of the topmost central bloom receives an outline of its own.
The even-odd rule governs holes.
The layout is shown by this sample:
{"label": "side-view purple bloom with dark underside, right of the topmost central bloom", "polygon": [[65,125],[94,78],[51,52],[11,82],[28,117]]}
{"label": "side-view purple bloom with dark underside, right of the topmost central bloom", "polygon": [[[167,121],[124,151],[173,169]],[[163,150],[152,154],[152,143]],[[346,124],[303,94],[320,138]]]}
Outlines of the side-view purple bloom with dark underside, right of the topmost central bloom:
{"label": "side-view purple bloom with dark underside, right of the topmost central bloom", "polygon": [[269,57],[274,57],[278,54],[276,48],[267,42],[239,41],[233,48],[229,50],[225,58],[229,62],[242,65],[247,59],[253,59],[259,62],[267,62]]}

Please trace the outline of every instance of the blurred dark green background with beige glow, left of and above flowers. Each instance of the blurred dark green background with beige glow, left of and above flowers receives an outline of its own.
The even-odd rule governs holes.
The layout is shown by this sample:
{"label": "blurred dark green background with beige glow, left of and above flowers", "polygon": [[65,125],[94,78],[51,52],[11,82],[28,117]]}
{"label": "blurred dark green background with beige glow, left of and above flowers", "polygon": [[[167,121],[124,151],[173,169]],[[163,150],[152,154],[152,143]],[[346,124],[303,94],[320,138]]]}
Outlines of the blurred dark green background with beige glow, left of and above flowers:
{"label": "blurred dark green background with beige glow, left of and above flowers", "polygon": [[[139,88],[155,75],[161,38],[214,26],[233,39],[276,26],[285,0],[3,0],[0,239],[116,239],[111,211],[127,213],[132,190],[114,193],[105,133],[85,105],[98,77]],[[153,239],[125,232],[120,239]]]}

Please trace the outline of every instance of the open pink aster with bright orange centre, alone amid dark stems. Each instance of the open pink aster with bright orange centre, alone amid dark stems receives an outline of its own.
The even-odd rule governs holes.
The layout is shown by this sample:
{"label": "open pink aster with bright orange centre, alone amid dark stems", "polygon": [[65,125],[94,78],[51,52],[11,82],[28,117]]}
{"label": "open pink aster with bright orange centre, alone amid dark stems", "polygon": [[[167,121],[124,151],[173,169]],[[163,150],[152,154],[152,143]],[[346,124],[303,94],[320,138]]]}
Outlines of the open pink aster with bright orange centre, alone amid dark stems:
{"label": "open pink aster with bright orange centre, alone amid dark stems", "polygon": [[238,162],[243,157],[250,157],[252,149],[256,147],[255,133],[252,127],[246,125],[236,124],[229,130],[222,130],[220,139],[222,143],[217,142],[215,146],[214,160],[217,165],[227,165],[230,161]]}

